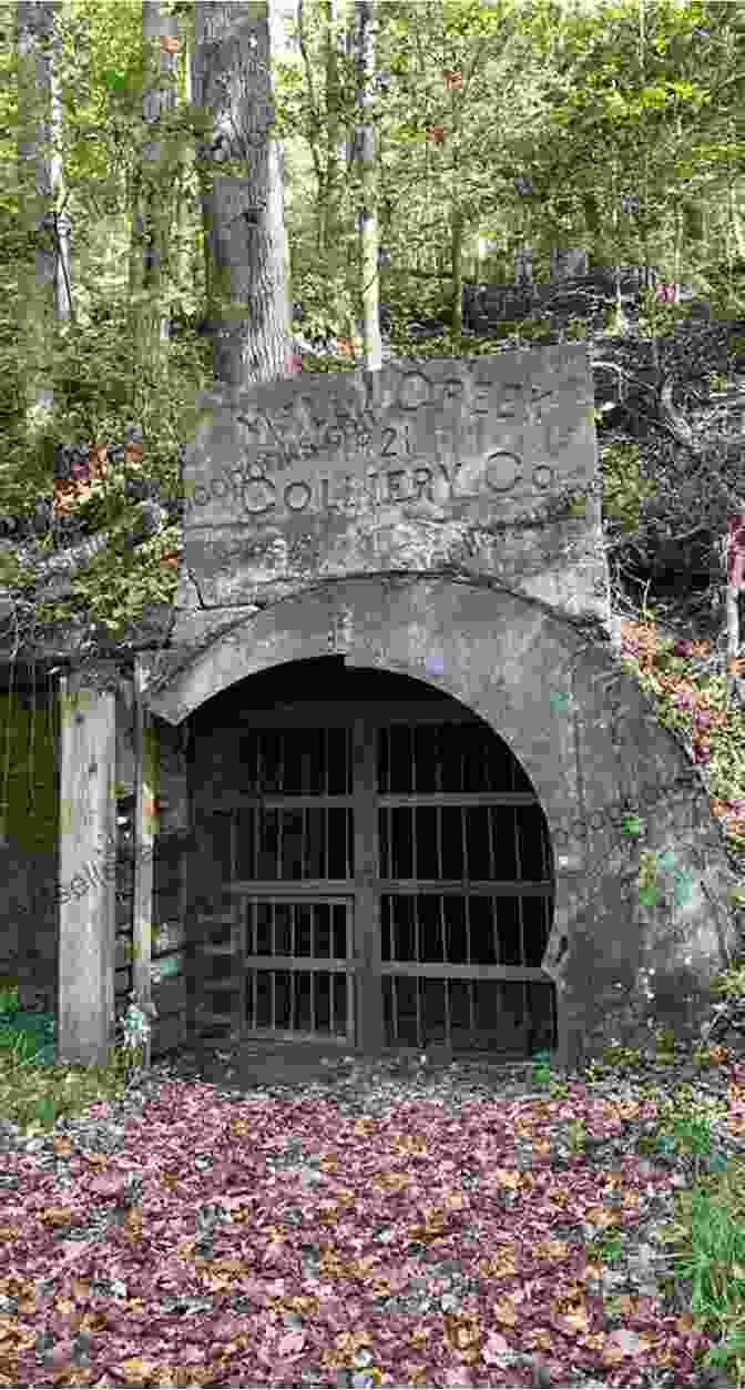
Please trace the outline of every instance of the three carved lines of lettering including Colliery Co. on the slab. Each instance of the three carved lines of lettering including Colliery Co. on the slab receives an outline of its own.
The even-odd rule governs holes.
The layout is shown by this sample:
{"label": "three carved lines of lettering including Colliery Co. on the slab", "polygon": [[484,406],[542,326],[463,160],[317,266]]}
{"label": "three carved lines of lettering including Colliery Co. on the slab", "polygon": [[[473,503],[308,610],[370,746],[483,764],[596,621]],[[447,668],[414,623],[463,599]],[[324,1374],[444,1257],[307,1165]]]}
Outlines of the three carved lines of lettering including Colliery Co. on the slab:
{"label": "three carved lines of lettering including Colliery Co. on the slab", "polygon": [[[503,373],[484,360],[384,367],[354,374],[349,385],[335,378],[322,393],[310,384],[292,384],[288,392],[288,382],[277,402],[259,388],[232,414],[247,431],[243,456],[215,467],[222,448],[215,425],[214,443],[202,456],[207,468],[186,481],[190,525],[199,530],[199,513],[207,507],[221,517],[210,518],[213,525],[231,518],[279,525],[350,503],[446,503],[482,493],[502,506],[516,489],[546,493],[563,471],[553,455],[566,448],[575,418],[559,425],[550,417],[550,406],[567,391],[566,373],[555,382],[538,363],[524,368],[517,354],[507,379]],[[546,443],[532,431],[524,435],[525,424],[538,424]]]}

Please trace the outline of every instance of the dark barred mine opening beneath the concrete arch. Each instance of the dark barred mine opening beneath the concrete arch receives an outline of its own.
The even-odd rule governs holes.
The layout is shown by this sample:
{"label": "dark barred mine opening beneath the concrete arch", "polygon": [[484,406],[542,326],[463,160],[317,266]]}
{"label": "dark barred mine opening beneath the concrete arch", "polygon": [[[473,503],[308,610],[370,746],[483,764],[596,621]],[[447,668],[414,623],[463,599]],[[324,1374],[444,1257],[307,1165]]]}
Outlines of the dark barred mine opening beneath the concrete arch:
{"label": "dark barred mine opening beneath the concrete arch", "polygon": [[332,698],[314,699],[322,664],[295,663],[282,706],[236,703],[196,734],[197,1031],[552,1047],[552,858],[530,780],[417,681],[342,670],[329,687],[327,670]]}

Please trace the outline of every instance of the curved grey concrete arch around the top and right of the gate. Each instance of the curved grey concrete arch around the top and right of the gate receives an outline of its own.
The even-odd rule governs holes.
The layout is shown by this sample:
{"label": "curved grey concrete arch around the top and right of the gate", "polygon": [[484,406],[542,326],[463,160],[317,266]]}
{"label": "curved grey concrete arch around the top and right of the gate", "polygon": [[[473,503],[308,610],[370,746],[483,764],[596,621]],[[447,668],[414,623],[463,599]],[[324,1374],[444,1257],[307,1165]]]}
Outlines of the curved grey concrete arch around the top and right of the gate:
{"label": "curved grey concrete arch around the top and right of the gate", "polygon": [[[179,723],[252,674],[329,652],[439,687],[523,764],[555,848],[542,965],[556,986],[559,1065],[613,1037],[646,1038],[650,976],[657,1020],[695,1026],[709,977],[735,948],[732,877],[695,769],[607,648],[548,606],[477,582],[345,580],[253,612],[147,702]],[[641,841],[620,833],[624,810],[641,810]],[[638,894],[645,855],[666,866],[652,905]],[[669,902],[673,880],[685,901]]]}

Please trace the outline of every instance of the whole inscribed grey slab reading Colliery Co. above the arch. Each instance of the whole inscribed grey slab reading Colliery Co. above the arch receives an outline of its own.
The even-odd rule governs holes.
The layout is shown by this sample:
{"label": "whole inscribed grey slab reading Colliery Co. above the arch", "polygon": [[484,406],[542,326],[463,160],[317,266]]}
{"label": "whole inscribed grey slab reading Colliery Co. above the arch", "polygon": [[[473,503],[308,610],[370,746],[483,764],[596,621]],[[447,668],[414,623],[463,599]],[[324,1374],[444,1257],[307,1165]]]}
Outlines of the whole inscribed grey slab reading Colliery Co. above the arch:
{"label": "whole inscribed grey slab reading Colliery Co. above the arch", "polygon": [[[206,393],[171,645],[350,574],[499,580],[610,623],[585,343]],[[178,660],[178,657],[177,657]]]}

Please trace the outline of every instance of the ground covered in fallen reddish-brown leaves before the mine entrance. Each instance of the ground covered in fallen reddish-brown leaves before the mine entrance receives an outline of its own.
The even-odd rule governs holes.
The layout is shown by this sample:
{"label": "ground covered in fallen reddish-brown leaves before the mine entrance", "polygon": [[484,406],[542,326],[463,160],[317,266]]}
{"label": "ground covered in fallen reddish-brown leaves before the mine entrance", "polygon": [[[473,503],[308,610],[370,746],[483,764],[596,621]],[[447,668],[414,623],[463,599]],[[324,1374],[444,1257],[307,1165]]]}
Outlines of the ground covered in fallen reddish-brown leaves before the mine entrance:
{"label": "ground covered in fallen reddish-brown leaves before the mine entrance", "polygon": [[[334,1072],[225,1091],[161,1065],[49,1134],[3,1122],[0,1384],[728,1383],[660,1282],[692,1172],[638,1151],[639,1077]],[[737,1154],[745,1066],[706,1077]]]}

